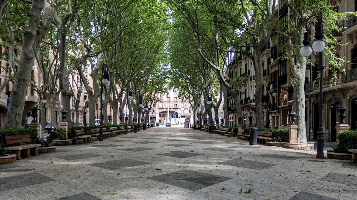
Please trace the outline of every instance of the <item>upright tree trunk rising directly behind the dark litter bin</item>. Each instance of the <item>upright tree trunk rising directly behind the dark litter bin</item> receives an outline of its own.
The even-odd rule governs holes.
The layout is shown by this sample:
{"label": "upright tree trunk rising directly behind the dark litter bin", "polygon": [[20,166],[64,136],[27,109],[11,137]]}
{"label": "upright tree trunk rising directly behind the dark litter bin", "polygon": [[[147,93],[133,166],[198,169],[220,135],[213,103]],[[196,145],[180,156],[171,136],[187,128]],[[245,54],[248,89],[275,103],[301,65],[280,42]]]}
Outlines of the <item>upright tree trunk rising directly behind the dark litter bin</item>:
{"label": "upright tree trunk rising directly behind the dark litter bin", "polygon": [[264,116],[263,116],[263,101],[262,101],[262,85],[263,85],[263,65],[261,59],[261,49],[257,48],[253,52],[253,62],[254,62],[254,72],[255,72],[255,83],[256,83],[256,93],[255,93],[255,108],[257,117],[257,127],[264,128]]}

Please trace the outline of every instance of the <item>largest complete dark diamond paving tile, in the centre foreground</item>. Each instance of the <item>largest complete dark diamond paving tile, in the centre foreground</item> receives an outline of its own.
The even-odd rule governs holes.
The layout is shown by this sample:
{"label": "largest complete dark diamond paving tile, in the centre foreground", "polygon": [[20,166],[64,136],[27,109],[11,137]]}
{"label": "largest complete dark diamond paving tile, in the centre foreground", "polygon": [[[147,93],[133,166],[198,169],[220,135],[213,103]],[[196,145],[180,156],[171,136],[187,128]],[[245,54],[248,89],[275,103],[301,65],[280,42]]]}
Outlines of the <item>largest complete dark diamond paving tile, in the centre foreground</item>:
{"label": "largest complete dark diamond paving tile, in the centre foreground", "polygon": [[149,177],[148,179],[160,181],[162,183],[167,183],[190,190],[198,190],[210,185],[220,183],[225,180],[229,180],[231,178],[203,172],[196,172],[192,170],[181,170],[178,172]]}

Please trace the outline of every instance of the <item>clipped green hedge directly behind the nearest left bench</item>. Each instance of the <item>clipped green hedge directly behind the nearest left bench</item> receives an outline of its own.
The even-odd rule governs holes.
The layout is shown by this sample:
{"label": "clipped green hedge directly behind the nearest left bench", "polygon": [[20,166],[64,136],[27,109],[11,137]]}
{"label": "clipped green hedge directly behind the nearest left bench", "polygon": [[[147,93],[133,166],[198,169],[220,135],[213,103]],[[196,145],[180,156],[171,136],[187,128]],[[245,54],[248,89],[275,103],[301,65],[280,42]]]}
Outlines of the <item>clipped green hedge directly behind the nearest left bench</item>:
{"label": "clipped green hedge directly behind the nearest left bench", "polygon": [[[6,144],[5,136],[15,136],[15,135],[25,135],[25,134],[30,134],[31,140],[35,140],[39,132],[37,131],[36,128],[1,128],[0,129],[0,146],[1,147],[8,147]],[[25,144],[29,144],[29,142],[26,142]],[[13,144],[9,146],[16,146],[19,144]]]}

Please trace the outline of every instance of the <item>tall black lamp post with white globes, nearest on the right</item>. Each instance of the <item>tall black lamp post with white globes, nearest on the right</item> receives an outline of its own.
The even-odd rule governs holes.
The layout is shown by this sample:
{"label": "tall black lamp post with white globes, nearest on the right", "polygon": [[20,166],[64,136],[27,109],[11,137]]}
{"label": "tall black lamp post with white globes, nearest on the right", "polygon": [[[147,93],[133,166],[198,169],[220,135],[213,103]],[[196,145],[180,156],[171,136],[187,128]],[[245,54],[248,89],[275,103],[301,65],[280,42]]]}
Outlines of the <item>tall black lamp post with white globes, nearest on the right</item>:
{"label": "tall black lamp post with white globes, nearest on the right", "polygon": [[324,135],[323,135],[323,128],[322,128],[322,73],[323,69],[325,68],[323,66],[323,49],[325,49],[325,42],[323,42],[323,32],[322,32],[322,13],[321,11],[318,13],[318,15],[312,15],[308,18],[310,20],[311,18],[315,18],[316,21],[311,20],[310,22],[306,23],[306,32],[304,33],[304,40],[303,40],[303,45],[300,49],[300,53],[302,56],[310,56],[311,55],[311,47],[310,47],[310,36],[308,33],[308,23],[312,23],[315,25],[316,32],[315,32],[315,42],[312,43],[312,48],[315,52],[318,52],[318,69],[320,70],[320,106],[319,106],[319,119],[318,119],[318,131],[317,131],[317,154],[316,158],[325,158],[325,155],[323,154],[323,141],[324,141]]}

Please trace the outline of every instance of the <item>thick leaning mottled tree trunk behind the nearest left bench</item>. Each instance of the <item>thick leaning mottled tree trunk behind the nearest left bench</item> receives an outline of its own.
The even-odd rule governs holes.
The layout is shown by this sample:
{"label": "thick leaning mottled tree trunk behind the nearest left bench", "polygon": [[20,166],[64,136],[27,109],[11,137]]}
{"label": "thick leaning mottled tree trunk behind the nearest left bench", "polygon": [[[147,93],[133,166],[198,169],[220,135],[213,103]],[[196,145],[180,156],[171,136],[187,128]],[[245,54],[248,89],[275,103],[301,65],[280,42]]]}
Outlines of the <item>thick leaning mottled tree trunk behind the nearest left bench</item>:
{"label": "thick leaning mottled tree trunk behind the nearest left bench", "polygon": [[[22,51],[17,67],[17,76],[12,86],[9,110],[7,111],[5,128],[21,127],[22,115],[24,113],[25,95],[30,81],[31,69],[34,65],[35,49],[38,43],[36,33],[39,28],[44,0],[33,0],[29,12],[29,23],[22,35]],[[52,17],[52,16],[51,16]]]}

